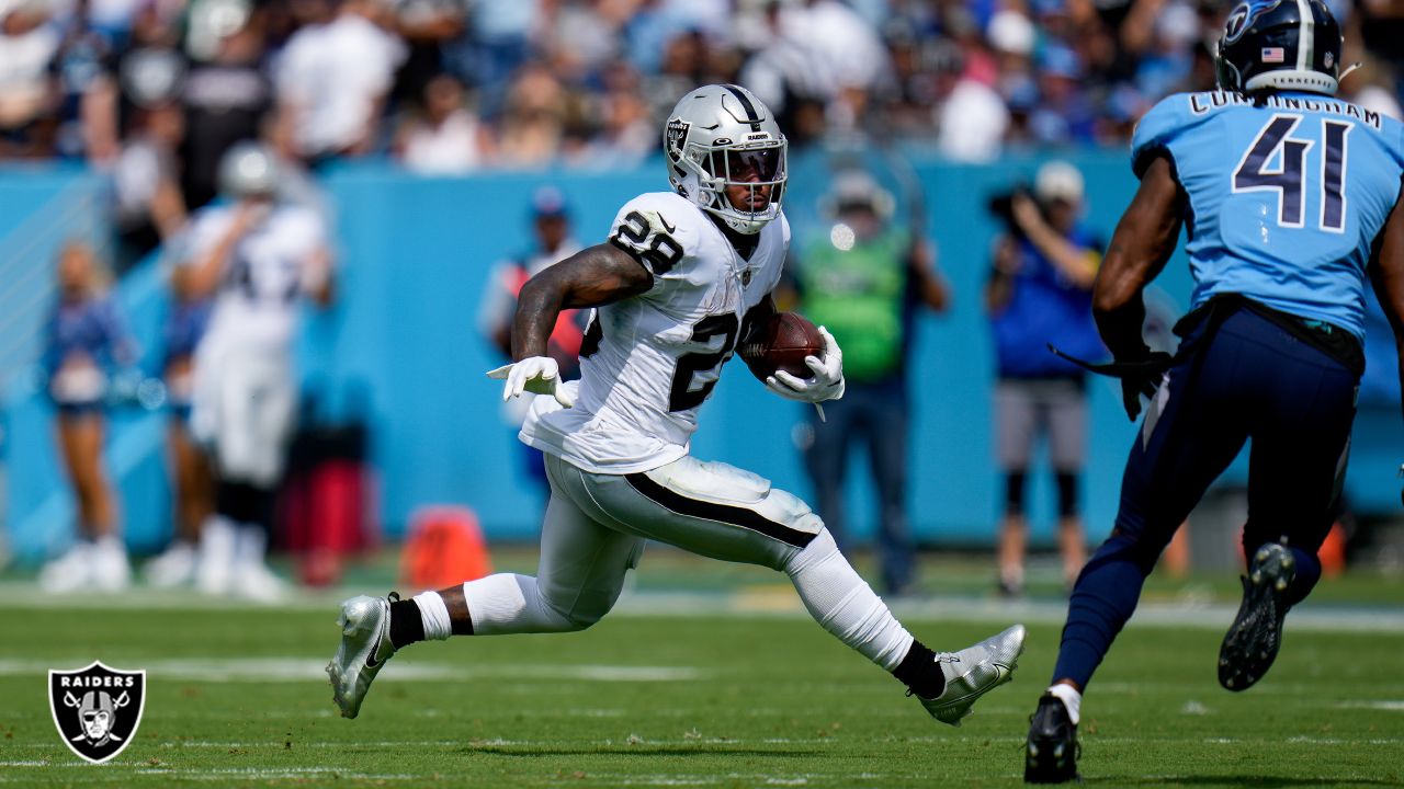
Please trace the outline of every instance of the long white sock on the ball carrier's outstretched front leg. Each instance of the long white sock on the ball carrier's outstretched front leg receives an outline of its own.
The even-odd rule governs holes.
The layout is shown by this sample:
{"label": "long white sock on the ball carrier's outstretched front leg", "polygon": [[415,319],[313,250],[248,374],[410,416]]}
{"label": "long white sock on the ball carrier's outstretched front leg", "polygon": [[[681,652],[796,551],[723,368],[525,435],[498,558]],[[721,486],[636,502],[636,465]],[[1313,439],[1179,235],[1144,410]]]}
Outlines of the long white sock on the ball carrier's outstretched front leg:
{"label": "long white sock on the ball carrier's outstretched front leg", "polygon": [[821,628],[892,671],[911,649],[911,633],[887,611],[844,555],[828,529],[785,566],[804,608]]}

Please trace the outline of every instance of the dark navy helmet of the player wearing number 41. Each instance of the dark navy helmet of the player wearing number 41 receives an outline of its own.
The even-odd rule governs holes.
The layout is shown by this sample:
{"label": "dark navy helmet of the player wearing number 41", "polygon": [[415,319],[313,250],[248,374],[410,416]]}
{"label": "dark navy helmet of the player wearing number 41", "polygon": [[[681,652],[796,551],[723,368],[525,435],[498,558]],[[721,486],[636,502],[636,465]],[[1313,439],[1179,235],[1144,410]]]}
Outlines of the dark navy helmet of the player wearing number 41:
{"label": "dark navy helmet of the player wearing number 41", "polygon": [[1321,0],[1247,0],[1219,39],[1219,87],[1335,95],[1341,44],[1341,25]]}

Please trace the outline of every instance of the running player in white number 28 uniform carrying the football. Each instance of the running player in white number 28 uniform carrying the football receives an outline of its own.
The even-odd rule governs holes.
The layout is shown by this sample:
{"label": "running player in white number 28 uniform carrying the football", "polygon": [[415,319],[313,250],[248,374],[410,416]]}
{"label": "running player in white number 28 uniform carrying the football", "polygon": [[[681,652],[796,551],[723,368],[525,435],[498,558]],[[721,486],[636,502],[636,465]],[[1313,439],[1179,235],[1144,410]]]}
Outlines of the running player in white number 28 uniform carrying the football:
{"label": "running player in white number 28 uniform carrying the football", "polygon": [[[538,397],[522,441],[546,455],[550,482],[535,577],[501,573],[402,601],[341,606],[341,646],[327,665],[341,715],[355,717],[396,650],[451,635],[585,629],[619,597],[646,539],[789,576],[814,619],[890,671],[943,723],[1007,682],[1024,628],[958,653],[915,640],[854,571],[795,496],[753,473],[688,455],[698,409],[744,327],[775,310],[789,226],[781,213],[786,142],[764,104],[726,84],[687,94],[664,129],[673,192],[629,201],[608,243],[542,271],[521,289],[515,364],[504,399]],[[581,379],[560,382],[546,338],[563,309],[595,307]],[[842,355],[827,331],[809,379],[768,387],[819,403],[844,393]]]}

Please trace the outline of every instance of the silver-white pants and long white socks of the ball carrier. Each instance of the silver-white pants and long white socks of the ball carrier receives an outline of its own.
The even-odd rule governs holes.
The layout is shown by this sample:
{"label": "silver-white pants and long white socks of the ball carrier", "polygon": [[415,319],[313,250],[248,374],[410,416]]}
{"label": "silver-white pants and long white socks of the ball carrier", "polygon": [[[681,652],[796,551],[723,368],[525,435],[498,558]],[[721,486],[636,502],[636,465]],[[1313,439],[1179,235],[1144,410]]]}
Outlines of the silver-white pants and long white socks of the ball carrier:
{"label": "silver-white pants and long white socks of the ball carrier", "polygon": [[550,503],[536,577],[463,584],[475,635],[581,630],[636,567],[644,539],[788,574],[814,619],[886,670],[911,635],[854,571],[809,505],[726,463],[684,456],[633,475],[595,475],[546,455]]}

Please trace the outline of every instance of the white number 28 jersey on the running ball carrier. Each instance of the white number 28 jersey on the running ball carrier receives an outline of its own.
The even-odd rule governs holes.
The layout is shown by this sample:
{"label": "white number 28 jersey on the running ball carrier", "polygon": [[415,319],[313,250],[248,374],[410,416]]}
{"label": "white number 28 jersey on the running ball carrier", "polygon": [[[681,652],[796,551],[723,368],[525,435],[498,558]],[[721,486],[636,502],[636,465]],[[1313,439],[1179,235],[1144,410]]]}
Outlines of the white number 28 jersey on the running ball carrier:
{"label": "white number 28 jersey on the running ball carrier", "polygon": [[701,208],[651,192],[619,211],[609,243],[653,286],[595,309],[574,407],[536,397],[521,439],[587,472],[626,475],[687,455],[747,310],[779,282],[789,225],[781,215],[761,229],[744,260]]}

